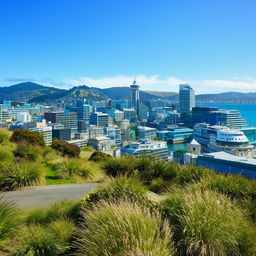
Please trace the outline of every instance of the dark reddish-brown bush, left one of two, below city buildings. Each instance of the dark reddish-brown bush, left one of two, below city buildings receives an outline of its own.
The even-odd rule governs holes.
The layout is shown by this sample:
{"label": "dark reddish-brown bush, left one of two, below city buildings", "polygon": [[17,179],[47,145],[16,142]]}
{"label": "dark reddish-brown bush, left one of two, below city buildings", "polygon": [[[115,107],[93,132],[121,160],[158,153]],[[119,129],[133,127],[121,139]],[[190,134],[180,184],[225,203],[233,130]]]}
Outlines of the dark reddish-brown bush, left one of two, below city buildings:
{"label": "dark reddish-brown bush, left one of two, below city buildings", "polygon": [[14,130],[10,141],[17,144],[45,146],[43,136],[40,133],[27,130]]}

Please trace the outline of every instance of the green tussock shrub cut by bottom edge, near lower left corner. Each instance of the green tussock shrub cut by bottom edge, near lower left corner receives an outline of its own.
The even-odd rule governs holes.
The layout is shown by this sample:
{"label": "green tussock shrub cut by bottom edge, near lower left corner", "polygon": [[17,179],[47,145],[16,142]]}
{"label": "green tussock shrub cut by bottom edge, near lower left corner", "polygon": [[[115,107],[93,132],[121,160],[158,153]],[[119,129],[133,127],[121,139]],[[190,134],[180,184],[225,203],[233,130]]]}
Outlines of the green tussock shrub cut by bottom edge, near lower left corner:
{"label": "green tussock shrub cut by bottom edge, near lower left corner", "polygon": [[66,251],[66,247],[44,226],[24,227],[14,247],[16,256],[56,256]]}

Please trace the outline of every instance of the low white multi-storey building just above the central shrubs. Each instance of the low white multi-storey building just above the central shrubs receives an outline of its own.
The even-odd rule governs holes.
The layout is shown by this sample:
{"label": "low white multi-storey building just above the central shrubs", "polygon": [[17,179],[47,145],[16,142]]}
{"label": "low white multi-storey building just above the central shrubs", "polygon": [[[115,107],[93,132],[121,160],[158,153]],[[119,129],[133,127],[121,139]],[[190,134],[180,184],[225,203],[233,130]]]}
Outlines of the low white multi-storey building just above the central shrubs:
{"label": "low white multi-storey building just above the central shrubs", "polygon": [[155,160],[168,161],[169,151],[166,141],[139,140],[132,142],[126,148],[121,148],[122,155],[134,157],[149,156]]}

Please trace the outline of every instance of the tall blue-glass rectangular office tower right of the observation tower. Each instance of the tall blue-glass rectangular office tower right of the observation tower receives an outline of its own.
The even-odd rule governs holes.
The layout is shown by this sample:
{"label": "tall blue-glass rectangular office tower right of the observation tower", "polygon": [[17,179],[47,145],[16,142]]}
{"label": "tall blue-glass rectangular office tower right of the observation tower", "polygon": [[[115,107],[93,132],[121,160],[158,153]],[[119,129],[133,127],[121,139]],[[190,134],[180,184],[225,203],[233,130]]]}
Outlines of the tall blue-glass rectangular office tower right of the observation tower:
{"label": "tall blue-glass rectangular office tower right of the observation tower", "polygon": [[180,113],[189,113],[195,107],[195,91],[188,84],[180,85]]}

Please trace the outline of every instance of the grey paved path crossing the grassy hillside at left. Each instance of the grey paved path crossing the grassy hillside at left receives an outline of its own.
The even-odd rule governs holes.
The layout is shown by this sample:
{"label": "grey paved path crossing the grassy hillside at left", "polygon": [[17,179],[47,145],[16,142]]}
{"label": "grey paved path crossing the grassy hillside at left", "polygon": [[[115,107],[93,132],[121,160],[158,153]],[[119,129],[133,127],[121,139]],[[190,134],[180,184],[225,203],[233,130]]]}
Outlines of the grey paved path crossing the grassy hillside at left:
{"label": "grey paved path crossing the grassy hillside at left", "polygon": [[35,186],[22,191],[4,192],[3,197],[20,208],[46,206],[60,200],[75,200],[97,187],[96,183]]}

